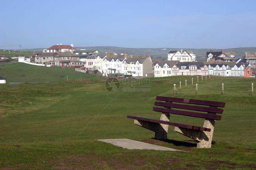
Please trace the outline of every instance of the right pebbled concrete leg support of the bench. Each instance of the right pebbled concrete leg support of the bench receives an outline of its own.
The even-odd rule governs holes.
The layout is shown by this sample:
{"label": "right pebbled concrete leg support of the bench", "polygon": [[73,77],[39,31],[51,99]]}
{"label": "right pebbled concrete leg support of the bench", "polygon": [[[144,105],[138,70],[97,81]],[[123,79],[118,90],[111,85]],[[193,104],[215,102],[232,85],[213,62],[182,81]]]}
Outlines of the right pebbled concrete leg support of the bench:
{"label": "right pebbled concrete leg support of the bench", "polygon": [[179,127],[175,127],[174,131],[199,141],[199,143],[197,143],[197,148],[211,148],[214,125],[215,120],[205,119],[203,127],[210,128],[210,132]]}

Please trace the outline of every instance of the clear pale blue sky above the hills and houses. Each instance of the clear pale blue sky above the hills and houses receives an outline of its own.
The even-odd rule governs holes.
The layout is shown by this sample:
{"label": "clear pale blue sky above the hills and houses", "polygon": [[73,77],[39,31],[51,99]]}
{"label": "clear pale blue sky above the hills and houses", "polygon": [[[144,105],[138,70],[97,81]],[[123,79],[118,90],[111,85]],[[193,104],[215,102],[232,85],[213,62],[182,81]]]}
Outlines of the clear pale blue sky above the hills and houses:
{"label": "clear pale blue sky above the hills and houses", "polygon": [[0,48],[256,47],[256,1],[0,0]]}

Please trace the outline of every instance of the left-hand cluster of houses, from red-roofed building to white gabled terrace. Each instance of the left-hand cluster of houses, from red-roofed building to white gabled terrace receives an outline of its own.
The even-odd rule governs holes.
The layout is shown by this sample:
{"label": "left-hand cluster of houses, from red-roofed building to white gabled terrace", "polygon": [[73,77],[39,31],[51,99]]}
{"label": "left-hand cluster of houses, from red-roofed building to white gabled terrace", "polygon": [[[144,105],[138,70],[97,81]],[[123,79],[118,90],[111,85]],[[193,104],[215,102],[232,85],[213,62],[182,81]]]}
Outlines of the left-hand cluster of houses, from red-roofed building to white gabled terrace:
{"label": "left-hand cluster of houses, from red-roofed building to white gabled terrace", "polygon": [[128,74],[134,77],[152,75],[150,55],[128,55],[127,53],[101,53],[98,50],[78,50],[73,45],[57,44],[36,53],[35,63],[46,66],[79,67],[82,72],[98,70],[103,75]]}

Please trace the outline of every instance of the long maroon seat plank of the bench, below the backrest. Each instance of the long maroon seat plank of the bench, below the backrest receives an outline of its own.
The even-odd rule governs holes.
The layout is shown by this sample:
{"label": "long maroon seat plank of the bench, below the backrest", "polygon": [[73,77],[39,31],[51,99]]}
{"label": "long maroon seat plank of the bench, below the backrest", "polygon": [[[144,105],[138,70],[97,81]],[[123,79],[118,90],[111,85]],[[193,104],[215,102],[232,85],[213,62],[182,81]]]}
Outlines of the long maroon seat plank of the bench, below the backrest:
{"label": "long maroon seat plank of the bench, below the backrest", "polygon": [[188,129],[195,129],[195,130],[201,130],[201,131],[207,131],[210,132],[210,128],[204,128],[200,126],[193,126],[193,125],[186,125],[186,124],[181,124],[181,123],[174,123],[174,122],[168,122],[168,121],[163,121],[163,120],[156,120],[156,119],[150,119],[150,118],[145,118],[145,117],[137,117],[137,116],[127,116],[127,118],[130,119],[135,119],[135,120],[143,120],[143,121],[148,121],[148,122],[154,122],[154,123],[161,123],[161,124],[166,124],[166,125],[172,125],[172,126],[177,126],[181,128],[188,128]]}

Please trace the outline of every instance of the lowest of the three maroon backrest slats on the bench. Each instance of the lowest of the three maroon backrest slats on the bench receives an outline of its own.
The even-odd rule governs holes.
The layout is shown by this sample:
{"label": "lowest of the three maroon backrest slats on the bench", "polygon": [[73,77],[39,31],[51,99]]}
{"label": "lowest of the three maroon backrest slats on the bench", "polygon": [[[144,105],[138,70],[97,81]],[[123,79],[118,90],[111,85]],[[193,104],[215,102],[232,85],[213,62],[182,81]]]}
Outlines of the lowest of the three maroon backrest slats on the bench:
{"label": "lowest of the three maroon backrest slats on the bench", "polygon": [[171,114],[176,114],[176,115],[191,116],[191,117],[201,117],[201,118],[205,118],[205,119],[221,120],[220,115],[212,115],[212,114],[198,113],[198,112],[189,112],[189,111],[184,111],[184,110],[153,107],[153,111],[171,113]]}

